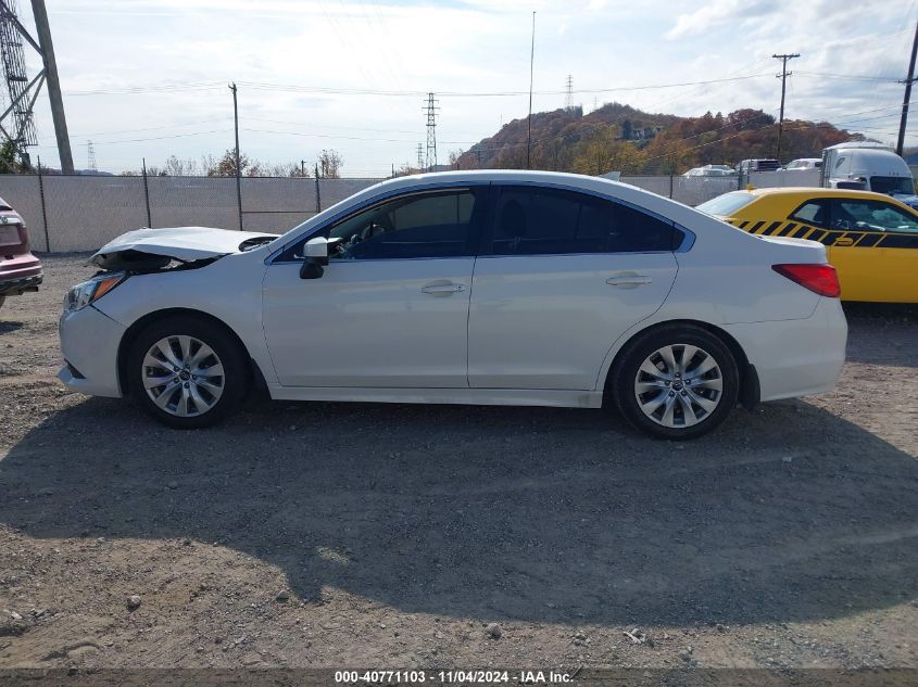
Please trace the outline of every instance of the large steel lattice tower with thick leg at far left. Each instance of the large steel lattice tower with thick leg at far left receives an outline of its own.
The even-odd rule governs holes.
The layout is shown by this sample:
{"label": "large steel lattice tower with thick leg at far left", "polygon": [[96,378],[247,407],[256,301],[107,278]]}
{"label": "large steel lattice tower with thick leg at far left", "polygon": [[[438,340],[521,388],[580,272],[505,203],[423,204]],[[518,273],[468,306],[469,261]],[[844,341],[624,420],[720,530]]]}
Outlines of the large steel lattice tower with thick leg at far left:
{"label": "large steel lattice tower with thick leg at far left", "polygon": [[[61,170],[64,174],[73,174],[73,155],[45,0],[32,0],[37,40],[20,22],[17,13],[17,0],[0,0],[0,58],[3,63],[4,96],[9,98],[8,106],[0,114],[0,133],[16,144],[23,155],[23,162],[28,163],[25,149],[38,144],[33,110],[42,85],[47,82],[54,133],[58,139],[58,153],[61,157]],[[39,54],[43,64],[43,68],[30,80],[25,68],[23,41],[26,41]]]}

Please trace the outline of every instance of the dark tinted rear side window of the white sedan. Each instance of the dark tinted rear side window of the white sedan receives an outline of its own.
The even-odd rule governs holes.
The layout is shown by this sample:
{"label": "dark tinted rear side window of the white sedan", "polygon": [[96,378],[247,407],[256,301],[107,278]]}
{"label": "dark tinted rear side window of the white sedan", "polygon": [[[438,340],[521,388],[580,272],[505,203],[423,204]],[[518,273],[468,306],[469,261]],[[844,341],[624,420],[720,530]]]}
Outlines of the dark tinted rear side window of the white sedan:
{"label": "dark tinted rear side window of the white sedan", "polygon": [[573,191],[503,187],[483,253],[646,253],[675,250],[681,240],[669,222],[620,203]]}

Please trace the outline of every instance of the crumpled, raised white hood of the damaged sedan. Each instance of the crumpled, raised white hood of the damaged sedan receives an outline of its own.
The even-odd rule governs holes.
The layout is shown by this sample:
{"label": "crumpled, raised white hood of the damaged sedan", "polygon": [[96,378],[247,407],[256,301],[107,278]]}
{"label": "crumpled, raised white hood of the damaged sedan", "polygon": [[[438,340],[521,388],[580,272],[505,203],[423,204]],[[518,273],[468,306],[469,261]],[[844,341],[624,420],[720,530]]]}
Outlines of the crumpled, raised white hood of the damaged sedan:
{"label": "crumpled, raised white hood of the damaged sedan", "polygon": [[275,234],[252,231],[230,231],[211,227],[173,227],[168,229],[137,229],[109,241],[89,258],[90,265],[102,267],[105,258],[126,251],[160,255],[190,262],[238,253],[239,244],[249,239],[269,238]]}

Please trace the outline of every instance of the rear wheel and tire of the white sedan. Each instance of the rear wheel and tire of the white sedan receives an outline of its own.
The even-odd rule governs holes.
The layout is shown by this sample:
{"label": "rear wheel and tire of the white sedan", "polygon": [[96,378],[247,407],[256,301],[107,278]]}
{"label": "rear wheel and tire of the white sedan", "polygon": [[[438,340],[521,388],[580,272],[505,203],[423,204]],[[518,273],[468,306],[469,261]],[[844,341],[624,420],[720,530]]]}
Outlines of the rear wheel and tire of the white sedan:
{"label": "rear wheel and tire of the white sedan", "polygon": [[718,336],[701,327],[670,325],[626,345],[608,389],[632,427],[657,438],[681,441],[706,434],[730,415],[740,374]]}

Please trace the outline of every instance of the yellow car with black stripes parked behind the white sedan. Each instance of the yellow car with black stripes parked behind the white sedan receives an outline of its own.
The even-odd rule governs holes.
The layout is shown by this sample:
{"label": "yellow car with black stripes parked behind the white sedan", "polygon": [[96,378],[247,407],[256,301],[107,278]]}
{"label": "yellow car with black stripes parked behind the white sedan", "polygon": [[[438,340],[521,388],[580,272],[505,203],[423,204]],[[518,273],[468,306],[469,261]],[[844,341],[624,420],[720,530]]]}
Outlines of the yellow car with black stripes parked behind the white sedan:
{"label": "yellow car with black stripes parked behind the white sedan", "polygon": [[844,301],[918,303],[918,213],[889,195],[754,189],[725,193],[697,209],[750,233],[825,244]]}

